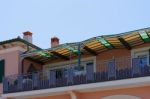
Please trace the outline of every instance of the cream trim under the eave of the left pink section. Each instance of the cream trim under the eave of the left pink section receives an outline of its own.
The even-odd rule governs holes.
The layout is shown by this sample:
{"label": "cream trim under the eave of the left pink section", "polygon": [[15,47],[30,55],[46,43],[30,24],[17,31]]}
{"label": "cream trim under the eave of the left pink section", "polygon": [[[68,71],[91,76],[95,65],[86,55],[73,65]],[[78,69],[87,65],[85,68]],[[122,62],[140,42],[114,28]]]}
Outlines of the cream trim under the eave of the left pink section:
{"label": "cream trim under the eave of the left pink section", "polygon": [[22,51],[22,52],[26,51],[25,49],[21,48],[20,46],[17,46],[17,47],[12,47],[12,48],[0,50],[0,54],[5,54],[5,53],[17,51],[17,50]]}

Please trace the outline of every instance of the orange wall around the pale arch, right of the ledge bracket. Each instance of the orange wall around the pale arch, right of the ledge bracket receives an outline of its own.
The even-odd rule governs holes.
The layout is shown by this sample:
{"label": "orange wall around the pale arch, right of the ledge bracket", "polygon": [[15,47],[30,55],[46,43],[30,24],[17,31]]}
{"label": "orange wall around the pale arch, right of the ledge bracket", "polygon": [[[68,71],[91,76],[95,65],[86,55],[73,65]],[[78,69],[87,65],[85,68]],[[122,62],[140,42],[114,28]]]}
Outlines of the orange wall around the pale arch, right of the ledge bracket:
{"label": "orange wall around the pale arch, right of the ledge bracket", "polygon": [[127,88],[127,89],[117,89],[117,90],[107,90],[107,91],[96,91],[80,94],[81,99],[103,99],[107,96],[112,95],[131,95],[136,96],[141,99],[149,99],[150,86],[139,87],[139,88]]}

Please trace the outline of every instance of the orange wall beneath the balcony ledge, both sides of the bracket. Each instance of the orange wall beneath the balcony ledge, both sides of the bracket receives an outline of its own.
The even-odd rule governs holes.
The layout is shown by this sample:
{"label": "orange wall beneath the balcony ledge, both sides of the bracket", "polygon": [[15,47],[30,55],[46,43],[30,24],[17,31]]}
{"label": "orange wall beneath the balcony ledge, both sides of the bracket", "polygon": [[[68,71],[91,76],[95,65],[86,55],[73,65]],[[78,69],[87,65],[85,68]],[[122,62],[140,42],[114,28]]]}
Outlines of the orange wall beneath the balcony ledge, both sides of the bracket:
{"label": "orange wall beneath the balcony ledge, both sides of the bracket", "polygon": [[[75,91],[74,91],[75,92]],[[71,94],[35,97],[28,99],[149,99],[150,86],[114,89],[105,91],[75,92],[76,98]]]}

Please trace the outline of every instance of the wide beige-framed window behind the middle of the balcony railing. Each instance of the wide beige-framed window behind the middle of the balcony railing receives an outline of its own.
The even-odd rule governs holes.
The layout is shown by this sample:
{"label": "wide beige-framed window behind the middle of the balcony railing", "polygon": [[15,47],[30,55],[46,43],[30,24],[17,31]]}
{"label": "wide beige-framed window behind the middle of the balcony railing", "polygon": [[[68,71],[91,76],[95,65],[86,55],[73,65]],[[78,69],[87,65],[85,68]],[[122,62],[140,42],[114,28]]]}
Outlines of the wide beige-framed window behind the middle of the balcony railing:
{"label": "wide beige-framed window behind the middle of the balcony railing", "polygon": [[[86,73],[86,67],[88,65],[93,65],[94,69],[94,61],[93,59],[88,60],[88,61],[82,61],[80,68],[76,62],[68,62],[68,63],[63,63],[63,64],[58,64],[58,65],[46,65],[44,66],[44,71],[50,71],[54,70],[55,71],[55,77],[57,79],[61,79],[63,77],[68,77],[68,69],[72,68],[73,74],[76,75],[81,75]],[[93,70],[94,71],[94,70]],[[47,75],[49,77],[49,74]]]}

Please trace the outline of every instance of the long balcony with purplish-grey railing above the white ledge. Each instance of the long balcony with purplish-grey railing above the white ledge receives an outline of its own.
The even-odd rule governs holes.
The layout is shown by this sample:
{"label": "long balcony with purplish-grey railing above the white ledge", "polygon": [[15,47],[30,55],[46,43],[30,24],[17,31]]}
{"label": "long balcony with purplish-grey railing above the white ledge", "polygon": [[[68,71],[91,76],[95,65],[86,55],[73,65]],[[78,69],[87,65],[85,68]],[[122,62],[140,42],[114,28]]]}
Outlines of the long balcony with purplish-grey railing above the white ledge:
{"label": "long balcony with purplish-grey railing above the white ledge", "polygon": [[62,69],[62,72],[50,70],[12,75],[4,77],[3,91],[4,94],[7,94],[146,77],[150,76],[150,66],[148,64],[147,57],[123,57],[97,62],[96,71],[94,71],[93,63],[89,63],[86,65],[85,70],[70,66]]}

